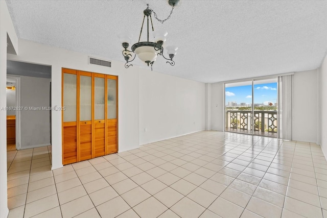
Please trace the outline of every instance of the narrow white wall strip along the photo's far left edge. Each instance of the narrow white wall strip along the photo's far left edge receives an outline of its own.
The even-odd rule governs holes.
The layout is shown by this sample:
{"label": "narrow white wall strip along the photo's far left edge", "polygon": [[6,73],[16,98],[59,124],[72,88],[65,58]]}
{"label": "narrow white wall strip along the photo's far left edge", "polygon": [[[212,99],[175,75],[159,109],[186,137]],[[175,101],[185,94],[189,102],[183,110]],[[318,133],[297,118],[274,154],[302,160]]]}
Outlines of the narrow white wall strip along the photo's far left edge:
{"label": "narrow white wall strip along the photo's far left edge", "polygon": [[[7,4],[0,1],[0,108],[6,107],[7,82],[7,34],[17,52],[17,35],[9,15]],[[8,216],[7,206],[7,119],[6,111],[0,110],[0,218]]]}

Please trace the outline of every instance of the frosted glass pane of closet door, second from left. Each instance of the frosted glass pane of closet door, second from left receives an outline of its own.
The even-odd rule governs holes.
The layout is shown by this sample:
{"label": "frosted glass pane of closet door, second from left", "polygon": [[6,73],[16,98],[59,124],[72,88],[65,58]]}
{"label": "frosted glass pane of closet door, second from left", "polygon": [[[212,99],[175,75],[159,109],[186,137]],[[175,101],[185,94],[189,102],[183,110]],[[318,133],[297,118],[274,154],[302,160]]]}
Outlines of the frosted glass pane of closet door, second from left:
{"label": "frosted glass pane of closet door, second from left", "polygon": [[91,120],[92,77],[80,77],[80,120]]}

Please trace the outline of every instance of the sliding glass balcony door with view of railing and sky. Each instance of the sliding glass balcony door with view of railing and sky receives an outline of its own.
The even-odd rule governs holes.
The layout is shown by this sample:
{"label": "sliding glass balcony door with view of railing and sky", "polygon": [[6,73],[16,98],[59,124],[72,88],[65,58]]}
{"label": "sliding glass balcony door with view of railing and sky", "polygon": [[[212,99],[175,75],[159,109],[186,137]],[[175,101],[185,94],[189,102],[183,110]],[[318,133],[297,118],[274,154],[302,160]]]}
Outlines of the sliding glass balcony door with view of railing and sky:
{"label": "sliding glass balcony door with view of railing and sky", "polygon": [[277,137],[277,78],[225,84],[225,131]]}

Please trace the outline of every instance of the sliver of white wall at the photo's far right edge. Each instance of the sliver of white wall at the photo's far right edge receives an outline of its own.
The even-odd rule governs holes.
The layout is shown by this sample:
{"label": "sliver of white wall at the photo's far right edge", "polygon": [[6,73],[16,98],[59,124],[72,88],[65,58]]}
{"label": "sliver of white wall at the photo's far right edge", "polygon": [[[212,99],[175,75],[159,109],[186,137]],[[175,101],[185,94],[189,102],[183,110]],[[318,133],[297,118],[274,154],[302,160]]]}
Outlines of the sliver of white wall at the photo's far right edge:
{"label": "sliver of white wall at the photo's far right edge", "polygon": [[321,105],[321,129],[320,129],[320,136],[321,136],[321,149],[322,152],[327,159],[327,114],[325,113],[327,108],[327,56],[325,57],[321,67],[320,67],[320,88],[321,88],[321,94],[320,94],[320,105]]}

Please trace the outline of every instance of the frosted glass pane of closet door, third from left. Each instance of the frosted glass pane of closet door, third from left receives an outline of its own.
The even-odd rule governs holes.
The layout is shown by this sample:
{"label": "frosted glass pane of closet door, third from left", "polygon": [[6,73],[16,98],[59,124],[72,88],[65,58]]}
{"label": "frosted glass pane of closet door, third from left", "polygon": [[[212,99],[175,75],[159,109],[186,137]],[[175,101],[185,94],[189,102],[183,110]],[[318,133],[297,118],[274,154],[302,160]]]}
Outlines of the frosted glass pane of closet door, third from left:
{"label": "frosted glass pane of closet door, third from left", "polygon": [[104,78],[95,78],[95,119],[104,119]]}

